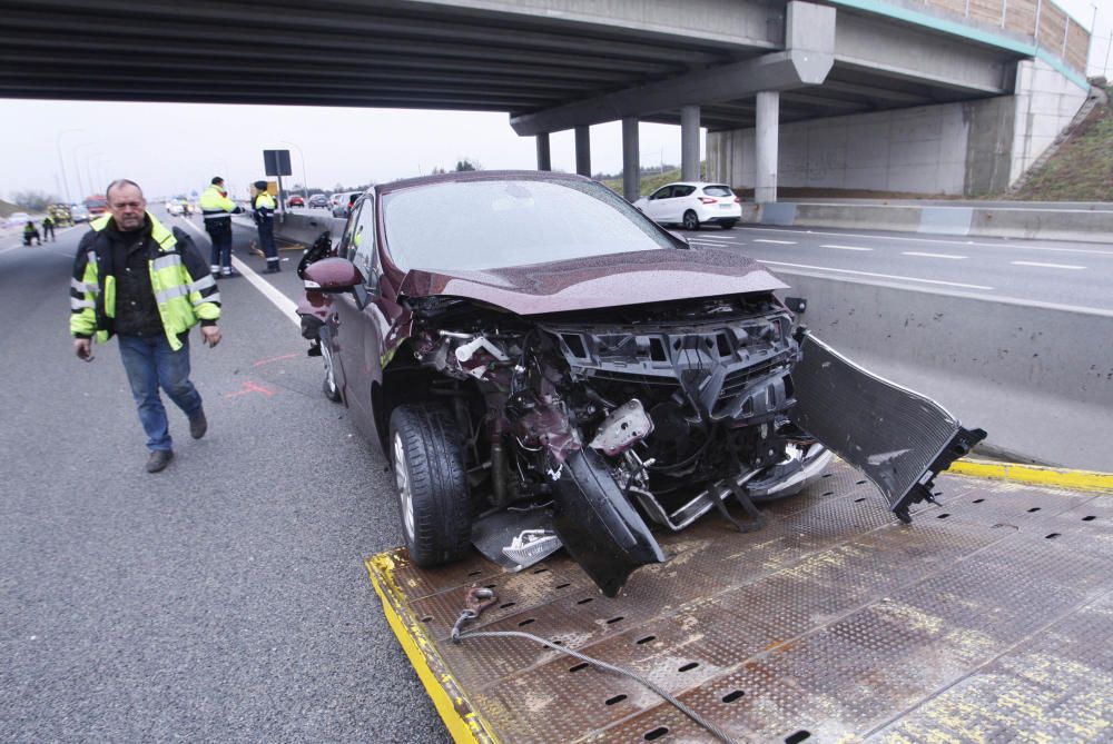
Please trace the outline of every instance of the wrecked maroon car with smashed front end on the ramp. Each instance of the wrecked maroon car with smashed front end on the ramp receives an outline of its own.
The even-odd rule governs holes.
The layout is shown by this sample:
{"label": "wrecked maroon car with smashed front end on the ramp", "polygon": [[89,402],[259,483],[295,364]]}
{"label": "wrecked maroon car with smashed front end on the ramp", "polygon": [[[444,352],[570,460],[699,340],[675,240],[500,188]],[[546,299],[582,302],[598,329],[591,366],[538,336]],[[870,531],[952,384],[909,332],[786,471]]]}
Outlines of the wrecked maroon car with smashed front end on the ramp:
{"label": "wrecked maroon car with smashed front end on the ramp", "polygon": [[299,272],[325,393],[382,444],[418,565],[563,546],[613,596],[664,561],[652,527],[758,528],[833,450],[907,520],[984,436],[795,327],[760,264],[579,176],[376,186]]}

